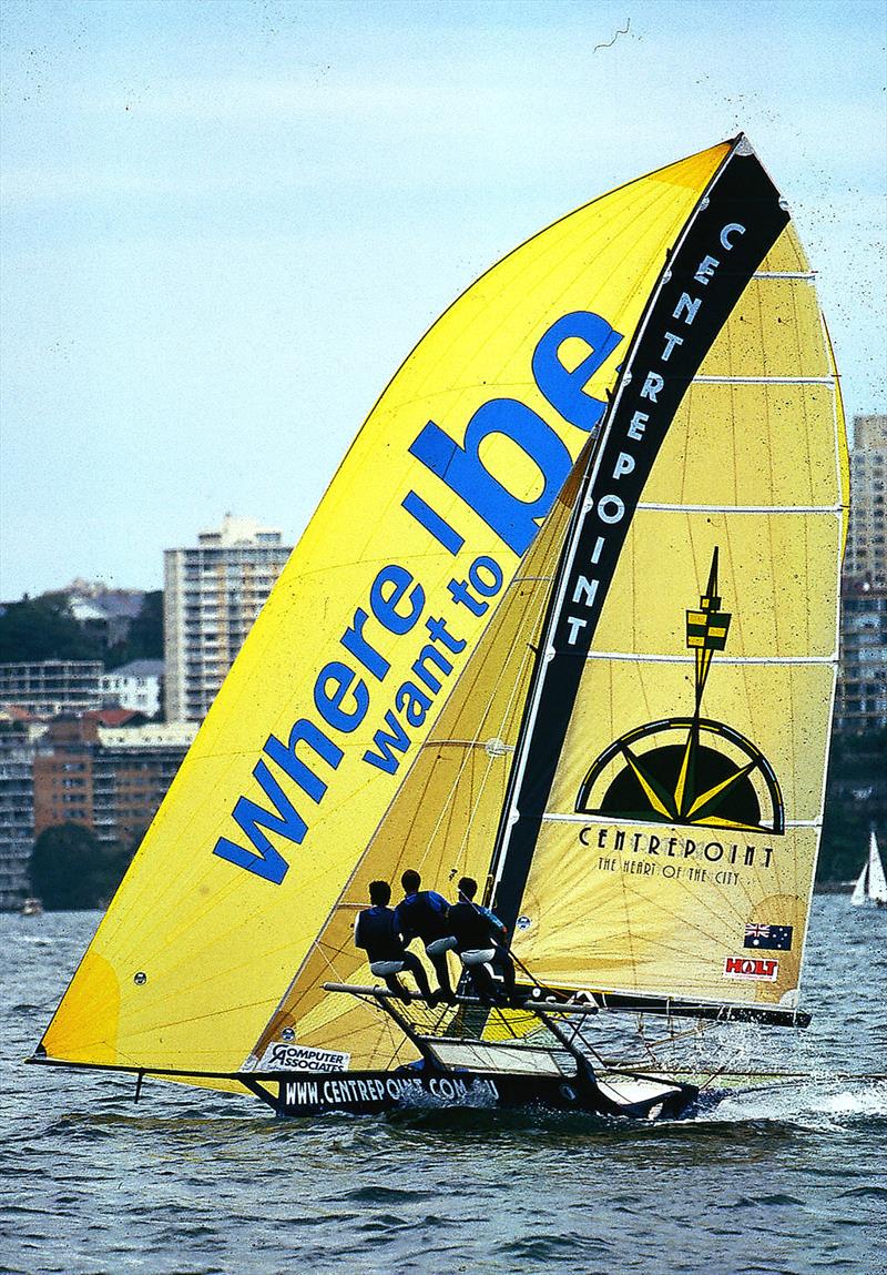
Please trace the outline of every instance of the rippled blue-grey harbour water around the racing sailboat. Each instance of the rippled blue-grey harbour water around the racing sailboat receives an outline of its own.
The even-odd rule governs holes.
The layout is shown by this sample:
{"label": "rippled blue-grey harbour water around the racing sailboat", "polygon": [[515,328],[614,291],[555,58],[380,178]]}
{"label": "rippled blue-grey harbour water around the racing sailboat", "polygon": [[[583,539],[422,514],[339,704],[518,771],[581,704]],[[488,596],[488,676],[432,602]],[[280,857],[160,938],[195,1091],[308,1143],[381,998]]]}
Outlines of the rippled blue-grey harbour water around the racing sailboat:
{"label": "rippled blue-grey harbour water around the racing sailboat", "polygon": [[[249,1099],[20,1066],[98,917],[0,917],[0,1271],[887,1271],[887,1082],[734,1095],[641,1126],[428,1112],[275,1121]],[[887,1071],[887,910],[818,898],[807,1033],[767,1067]],[[4,1238],[5,1237],[5,1238]]]}

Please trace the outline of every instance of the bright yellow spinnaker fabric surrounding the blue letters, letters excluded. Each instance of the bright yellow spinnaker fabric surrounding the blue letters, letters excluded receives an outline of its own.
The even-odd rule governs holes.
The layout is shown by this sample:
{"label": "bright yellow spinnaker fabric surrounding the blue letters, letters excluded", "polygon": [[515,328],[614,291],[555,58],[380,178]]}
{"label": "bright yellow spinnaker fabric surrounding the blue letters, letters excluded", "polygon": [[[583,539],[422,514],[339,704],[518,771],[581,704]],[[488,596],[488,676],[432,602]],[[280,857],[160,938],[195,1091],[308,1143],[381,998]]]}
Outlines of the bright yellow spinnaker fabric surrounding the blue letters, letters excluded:
{"label": "bright yellow spinnaker fabric surrounding the blue letters, letters excluded", "polygon": [[[269,736],[285,743],[294,722],[316,719],[316,678],[342,655],[340,638],[356,609],[367,608],[386,564],[405,567],[424,590],[423,616],[446,616],[454,631],[449,581],[488,555],[502,570],[494,599],[501,602],[520,565],[487,523],[410,454],[410,445],[428,421],[460,444],[473,413],[507,397],[548,422],[575,459],[588,433],[538,390],[533,352],[562,315],[590,310],[604,316],[623,342],[585,391],[605,397],[665,252],[728,150],[726,144],[714,147],[631,182],[528,241],[455,302],[408,357],[294,550],[93,940],[90,960],[99,958],[110,972],[102,996],[92,1002],[85,994],[90,975],[84,964],[46,1031],[50,1056],[195,1071],[241,1066],[330,917],[496,606],[477,617],[465,607],[459,611],[458,636],[465,646],[394,774],[373,769],[363,755],[393,690],[409,678],[421,640],[372,629],[390,672],[382,686],[367,680],[370,711],[347,738],[336,737],[344,756],[335,773],[319,768],[329,782],[322,802],[314,805],[283,771],[273,770],[310,825],[298,845],[268,834],[289,862],[278,885],[213,854],[220,838],[242,843],[232,820],[238,799],[263,801],[254,768]],[[570,357],[565,349],[565,361]],[[302,450],[310,445],[307,432],[282,440],[282,446]],[[519,499],[539,495],[539,470],[507,440],[488,439],[482,459]],[[250,463],[269,462],[259,456]],[[464,537],[456,557],[404,513],[401,501],[410,491]],[[136,982],[136,974],[145,978]]]}

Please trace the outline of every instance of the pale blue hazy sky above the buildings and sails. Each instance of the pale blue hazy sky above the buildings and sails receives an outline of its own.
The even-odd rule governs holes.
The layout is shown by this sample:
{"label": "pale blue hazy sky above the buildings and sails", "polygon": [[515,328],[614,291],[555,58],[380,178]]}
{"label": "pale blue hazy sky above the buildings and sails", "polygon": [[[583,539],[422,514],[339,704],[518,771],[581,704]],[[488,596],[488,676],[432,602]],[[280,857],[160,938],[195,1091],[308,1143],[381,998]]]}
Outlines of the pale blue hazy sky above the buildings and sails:
{"label": "pale blue hazy sky above the buildings and sails", "polygon": [[1,8],[1,598],[159,588],[226,511],[293,542],[482,270],[739,129],[887,408],[881,0]]}

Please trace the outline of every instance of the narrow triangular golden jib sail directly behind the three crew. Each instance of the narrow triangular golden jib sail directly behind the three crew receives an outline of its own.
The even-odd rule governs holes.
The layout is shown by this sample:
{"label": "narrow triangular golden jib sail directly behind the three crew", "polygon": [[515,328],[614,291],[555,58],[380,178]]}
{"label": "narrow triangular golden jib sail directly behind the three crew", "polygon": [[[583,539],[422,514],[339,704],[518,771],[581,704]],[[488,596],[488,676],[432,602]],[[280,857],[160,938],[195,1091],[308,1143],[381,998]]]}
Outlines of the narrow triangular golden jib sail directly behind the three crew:
{"label": "narrow triangular golden jib sail directly behind the three crew", "polygon": [[[280,1033],[314,1048],[347,1048],[354,1067],[387,1067],[414,1057],[408,1040],[376,1010],[344,992],[326,993],[325,982],[377,983],[366,954],[354,947],[354,919],[368,904],[373,880],[393,885],[393,907],[403,896],[400,875],[414,868],[426,890],[455,900],[460,876],[483,881],[505,801],[521,711],[533,671],[557,560],[573,506],[577,476],[566,483],[508,597],[468,663],[459,686],[419,751],[354,876],[317,936],[305,965],[256,1046],[256,1058]],[[424,959],[422,945],[412,950]],[[450,958],[454,986],[459,964]],[[436,979],[426,961],[431,987]],[[405,986],[413,987],[412,975]]]}

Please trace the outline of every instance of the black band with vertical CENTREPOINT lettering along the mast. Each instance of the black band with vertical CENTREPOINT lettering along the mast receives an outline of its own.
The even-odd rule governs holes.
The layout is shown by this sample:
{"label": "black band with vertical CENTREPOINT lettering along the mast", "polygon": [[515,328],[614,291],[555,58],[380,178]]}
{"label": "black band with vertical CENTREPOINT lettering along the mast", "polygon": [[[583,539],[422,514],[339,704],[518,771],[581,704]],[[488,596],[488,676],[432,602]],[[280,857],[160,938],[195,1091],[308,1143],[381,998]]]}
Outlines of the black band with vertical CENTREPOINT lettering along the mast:
{"label": "black band with vertical CENTREPOINT lettering along the mast", "polygon": [[784,201],[740,134],[691,213],[636,329],[565,538],[493,848],[496,907],[510,928],[644,484],[702,360],[788,222]]}

